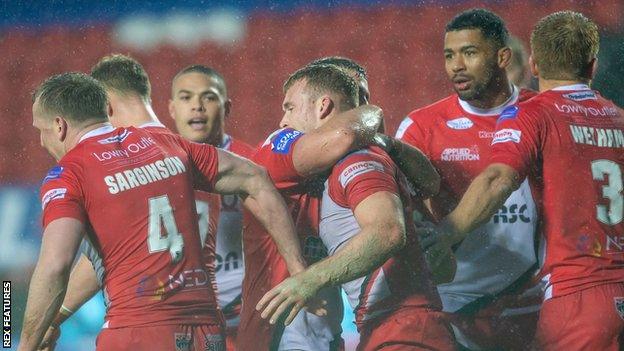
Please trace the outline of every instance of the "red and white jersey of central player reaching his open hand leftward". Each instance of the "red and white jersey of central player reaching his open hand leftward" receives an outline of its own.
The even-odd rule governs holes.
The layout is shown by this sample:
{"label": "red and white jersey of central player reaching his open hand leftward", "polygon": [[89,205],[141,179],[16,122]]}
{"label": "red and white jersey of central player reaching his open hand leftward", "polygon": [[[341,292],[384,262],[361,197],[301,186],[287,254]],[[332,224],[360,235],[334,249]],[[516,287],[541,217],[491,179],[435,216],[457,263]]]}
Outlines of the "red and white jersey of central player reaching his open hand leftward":
{"label": "red and white jersey of central player reaching his open hand leftward", "polygon": [[[373,147],[349,154],[334,166],[321,203],[320,236],[333,255],[360,232],[353,211],[367,197],[386,191],[410,203],[404,176],[390,157]],[[401,307],[439,309],[423,259],[410,206],[404,206],[407,244],[370,274],[342,284],[358,328]],[[383,233],[381,233],[383,234]]]}

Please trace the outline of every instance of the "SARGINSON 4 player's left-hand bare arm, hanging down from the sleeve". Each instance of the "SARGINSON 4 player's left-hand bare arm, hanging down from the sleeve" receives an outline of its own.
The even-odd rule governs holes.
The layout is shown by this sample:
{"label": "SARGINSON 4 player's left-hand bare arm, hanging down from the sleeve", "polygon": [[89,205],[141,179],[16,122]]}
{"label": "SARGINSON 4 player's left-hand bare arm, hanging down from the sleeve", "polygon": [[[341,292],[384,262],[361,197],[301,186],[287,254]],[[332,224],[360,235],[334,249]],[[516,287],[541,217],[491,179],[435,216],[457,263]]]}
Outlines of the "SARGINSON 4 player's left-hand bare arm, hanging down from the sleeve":
{"label": "SARGINSON 4 player's left-hand bare arm, hanging down from the sleeve", "polygon": [[18,350],[36,350],[61,307],[83,233],[83,223],[73,218],[60,218],[46,226],[39,261],[30,280]]}

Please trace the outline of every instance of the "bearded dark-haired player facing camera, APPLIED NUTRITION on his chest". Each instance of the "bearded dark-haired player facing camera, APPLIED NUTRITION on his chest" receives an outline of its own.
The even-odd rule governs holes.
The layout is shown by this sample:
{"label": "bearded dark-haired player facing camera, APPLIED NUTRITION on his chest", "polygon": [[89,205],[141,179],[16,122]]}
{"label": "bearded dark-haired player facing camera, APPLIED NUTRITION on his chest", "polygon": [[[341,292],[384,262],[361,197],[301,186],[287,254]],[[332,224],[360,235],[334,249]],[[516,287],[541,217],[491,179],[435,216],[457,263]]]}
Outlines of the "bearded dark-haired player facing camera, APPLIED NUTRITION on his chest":
{"label": "bearded dark-haired player facing camera, APPLIED NUTRITION on his chest", "polygon": [[[440,193],[427,201],[436,221],[487,167],[498,116],[535,95],[508,81],[507,41],[505,23],[496,14],[471,9],[456,15],[444,37],[445,68],[455,93],[411,112],[397,130],[396,137],[422,150],[441,175]],[[454,248],[455,276],[438,285],[463,347],[522,348],[535,331],[539,289],[529,288],[537,268],[538,217],[528,181],[504,206]],[[435,263],[432,269],[445,270]],[[524,297],[531,293],[533,299]]]}

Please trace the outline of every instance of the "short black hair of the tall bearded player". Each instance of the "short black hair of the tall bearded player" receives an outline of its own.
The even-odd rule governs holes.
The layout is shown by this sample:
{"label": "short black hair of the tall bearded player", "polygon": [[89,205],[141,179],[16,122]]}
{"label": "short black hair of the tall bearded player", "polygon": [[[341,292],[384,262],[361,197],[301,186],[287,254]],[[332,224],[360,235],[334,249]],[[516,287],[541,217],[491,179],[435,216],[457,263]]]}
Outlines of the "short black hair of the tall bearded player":
{"label": "short black hair of the tall bearded player", "polygon": [[507,45],[509,31],[505,22],[494,12],[486,9],[470,9],[455,16],[446,24],[446,32],[478,29],[483,37],[498,50]]}

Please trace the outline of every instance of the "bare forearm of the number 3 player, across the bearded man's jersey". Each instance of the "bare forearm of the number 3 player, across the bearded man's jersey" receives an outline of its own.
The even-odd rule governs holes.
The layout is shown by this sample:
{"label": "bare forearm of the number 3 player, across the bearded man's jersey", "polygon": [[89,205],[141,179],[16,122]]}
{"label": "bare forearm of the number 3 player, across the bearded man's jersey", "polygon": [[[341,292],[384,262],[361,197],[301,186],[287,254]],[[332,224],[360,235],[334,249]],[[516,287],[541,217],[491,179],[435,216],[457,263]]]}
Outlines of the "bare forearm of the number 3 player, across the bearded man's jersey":
{"label": "bare forearm of the number 3 player, across the bearded man's jersey", "polygon": [[[503,166],[507,167],[507,166]],[[457,207],[440,223],[451,245],[490,220],[519,183],[515,172],[509,173],[497,165],[488,167],[477,176]]]}

